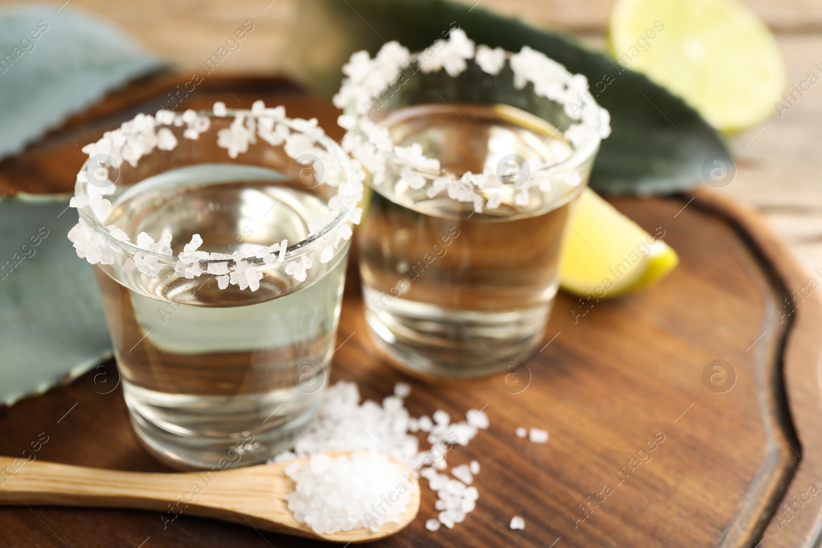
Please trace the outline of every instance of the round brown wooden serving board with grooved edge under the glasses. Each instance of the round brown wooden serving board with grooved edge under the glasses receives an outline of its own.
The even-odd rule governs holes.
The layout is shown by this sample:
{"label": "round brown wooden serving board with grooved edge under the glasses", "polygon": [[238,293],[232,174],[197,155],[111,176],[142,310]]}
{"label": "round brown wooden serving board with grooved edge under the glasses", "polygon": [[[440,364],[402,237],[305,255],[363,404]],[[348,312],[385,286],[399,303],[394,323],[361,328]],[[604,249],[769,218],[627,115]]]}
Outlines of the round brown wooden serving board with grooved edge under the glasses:
{"label": "round brown wooden serving board with grooved edge under the glasses", "polygon": [[[109,96],[65,132],[0,163],[0,191],[71,190],[83,161],[72,140],[84,145],[138,112],[155,112],[182,81],[158,76]],[[330,104],[279,79],[210,77],[182,107],[218,99],[229,107],[284,104],[289,115],[316,116],[341,136]],[[546,346],[514,376],[425,384],[390,369],[367,338],[349,268],[332,380],[355,380],[375,399],[406,380],[414,416],[442,408],[462,417],[484,407],[491,419],[449,456],[451,466],[481,463],[477,509],[459,527],[427,532],[436,495],[423,487],[417,521],[378,546],[816,546],[822,274],[803,272],[760,214],[715,193],[613,204],[650,233],[664,230],[681,265],[613,301],[583,305],[561,294]],[[0,454],[23,456],[36,444],[39,459],[166,470],[137,443],[117,385],[109,362],[0,410]],[[521,440],[518,426],[544,428],[550,440]],[[515,515],[524,531],[508,527]],[[159,513],[39,507],[0,509],[0,545],[318,546],[184,514],[164,527]]]}

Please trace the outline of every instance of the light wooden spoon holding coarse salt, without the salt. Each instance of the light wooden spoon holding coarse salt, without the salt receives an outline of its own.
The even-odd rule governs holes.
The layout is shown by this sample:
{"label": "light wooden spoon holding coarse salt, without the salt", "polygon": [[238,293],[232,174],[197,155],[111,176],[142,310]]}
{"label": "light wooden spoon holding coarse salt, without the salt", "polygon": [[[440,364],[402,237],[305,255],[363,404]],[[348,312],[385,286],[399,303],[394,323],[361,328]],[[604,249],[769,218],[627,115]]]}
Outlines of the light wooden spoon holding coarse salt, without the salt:
{"label": "light wooden spoon holding coarse salt, without the salt", "polygon": [[[369,529],[330,534],[314,532],[305,523],[294,520],[285,502],[285,495],[294,490],[294,481],[284,473],[289,463],[166,474],[118,472],[0,457],[0,505],[155,510],[161,512],[166,525],[178,515],[202,516],[341,543],[376,541],[393,535],[417,516],[419,485],[417,481],[407,480],[411,502],[402,523],[386,523],[378,532]],[[411,477],[408,467],[396,460],[395,463],[405,478]]]}

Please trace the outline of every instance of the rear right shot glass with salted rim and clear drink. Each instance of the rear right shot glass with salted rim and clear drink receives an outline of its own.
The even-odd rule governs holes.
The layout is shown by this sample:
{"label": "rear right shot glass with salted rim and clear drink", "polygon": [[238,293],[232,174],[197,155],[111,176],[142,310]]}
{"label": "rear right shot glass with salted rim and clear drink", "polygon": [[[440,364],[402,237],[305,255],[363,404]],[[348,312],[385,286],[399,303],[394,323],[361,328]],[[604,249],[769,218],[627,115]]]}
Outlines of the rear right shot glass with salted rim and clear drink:
{"label": "rear right shot glass with salted rim and clear drink", "polygon": [[358,229],[376,347],[418,375],[521,364],[543,338],[570,209],[607,111],[584,76],[462,30],[411,54],[356,53],[335,96],[366,168]]}

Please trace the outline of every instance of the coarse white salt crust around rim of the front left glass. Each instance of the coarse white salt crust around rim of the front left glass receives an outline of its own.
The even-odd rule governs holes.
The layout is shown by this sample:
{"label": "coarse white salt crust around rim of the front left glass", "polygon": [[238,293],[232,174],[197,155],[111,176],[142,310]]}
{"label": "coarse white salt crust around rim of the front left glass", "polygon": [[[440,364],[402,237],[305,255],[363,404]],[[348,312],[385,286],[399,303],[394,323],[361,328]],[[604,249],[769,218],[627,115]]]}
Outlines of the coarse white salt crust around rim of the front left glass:
{"label": "coarse white salt crust around rim of the front left glass", "polygon": [[[402,53],[399,51],[399,49],[402,49],[399,44],[395,45],[396,48],[384,48],[388,53],[394,52],[394,54],[381,53],[378,56],[382,59],[383,66],[385,66],[386,60],[396,60],[396,55]],[[404,52],[403,54],[407,56],[407,50],[404,50]],[[222,102],[215,103],[214,113],[218,117],[226,115],[228,112],[225,104]],[[175,149],[178,145],[178,139],[170,128],[183,126],[186,126],[183,131],[185,138],[198,139],[201,133],[205,133],[210,129],[211,120],[210,117],[201,116],[192,109],[188,109],[182,114],[160,109],[154,117],[144,113],[137,114],[132,120],[122,122],[119,129],[106,131],[101,139],[85,145],[82,151],[89,154],[91,159],[99,154],[111,158],[105,161],[87,162],[83,170],[77,173],[76,182],[86,185],[86,187],[84,191],[77,192],[76,196],[70,201],[70,205],[81,210],[88,208],[97,220],[104,220],[111,208],[111,202],[104,199],[103,196],[111,196],[116,191],[114,182],[107,180],[110,169],[117,168],[122,161],[127,161],[133,167],[136,167],[142,156],[150,154],[155,149]],[[348,168],[350,181],[345,180],[340,170],[330,169],[330,166],[335,162],[333,161],[333,155],[327,148],[307,144],[309,136],[319,139],[325,135],[325,132],[317,127],[316,118],[311,120],[301,120],[299,118],[288,120],[285,117],[284,107],[266,108],[262,101],[256,101],[252,105],[251,111],[235,111],[231,126],[218,131],[217,145],[227,149],[229,157],[236,158],[240,152],[248,150],[248,145],[256,143],[255,130],[258,127],[260,128],[261,137],[268,140],[272,145],[289,141],[286,142],[286,145],[289,145],[294,154],[300,151],[312,150],[317,157],[317,161],[326,167],[325,181],[321,182],[325,182],[330,187],[339,187],[337,196],[329,201],[331,211],[328,215],[323,216],[322,222],[317,225],[317,219],[309,221],[309,227],[313,225],[312,235],[320,233],[329,223],[334,222],[340,215],[340,209],[344,209],[348,213],[344,216],[344,221],[359,223],[363,210],[356,207],[356,205],[362,196],[362,183],[365,173],[356,160],[349,160],[348,165],[344,167]],[[292,133],[292,130],[296,133]],[[301,135],[301,132],[304,135]],[[318,140],[317,143],[320,143],[320,141]],[[322,146],[327,147],[325,144],[322,144]],[[289,151],[286,150],[286,153],[289,154]],[[91,182],[89,174],[92,170],[95,184],[87,186]],[[109,231],[108,235],[113,237],[114,240],[128,241],[128,237],[122,229],[114,225],[109,225],[106,229]],[[349,226],[339,228],[332,236],[334,238],[333,242],[329,242],[329,245],[323,248],[321,262],[325,263],[333,259],[334,250],[339,246],[341,240],[349,239],[351,233]],[[69,231],[68,238],[74,244],[77,256],[85,258],[93,265],[98,263],[113,265],[115,264],[115,252],[118,255],[130,252],[119,249],[105,233],[97,233],[89,223],[82,219],[82,216],[79,222]],[[134,251],[133,256],[122,258],[122,271],[132,272],[136,269],[150,277],[157,276],[159,271],[164,268],[164,261],[161,257],[152,256],[151,254],[171,256],[170,243],[170,235],[162,238],[159,242],[154,242],[152,238],[147,237],[145,234],[143,237],[138,237],[136,244],[142,250]],[[174,269],[175,275],[193,279],[207,272],[216,275],[218,287],[221,289],[228,288],[229,284],[233,283],[240,288],[250,288],[252,291],[256,291],[260,287],[259,281],[262,274],[257,272],[257,265],[244,265],[241,264],[241,261],[256,256],[265,265],[272,265],[277,259],[272,249],[268,253],[260,251],[252,255],[241,253],[236,256],[235,253],[235,256],[223,256],[224,254],[196,251],[197,246],[187,246],[178,255]],[[279,251],[279,260],[283,262],[284,250]],[[210,266],[206,266],[206,269],[204,269],[201,266],[201,260],[221,259],[232,259],[236,264],[225,265],[224,268],[218,267],[216,269],[212,269]],[[298,258],[298,265],[290,267],[289,274],[292,274],[295,279],[304,280],[307,278],[305,271],[311,269],[312,264],[313,260],[311,258],[302,255]]]}

